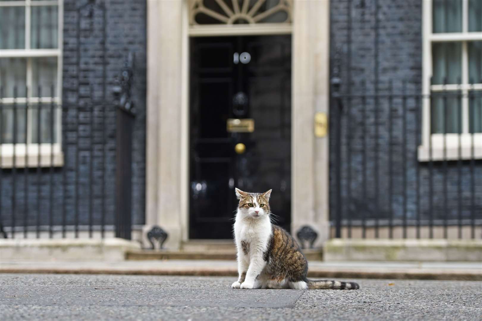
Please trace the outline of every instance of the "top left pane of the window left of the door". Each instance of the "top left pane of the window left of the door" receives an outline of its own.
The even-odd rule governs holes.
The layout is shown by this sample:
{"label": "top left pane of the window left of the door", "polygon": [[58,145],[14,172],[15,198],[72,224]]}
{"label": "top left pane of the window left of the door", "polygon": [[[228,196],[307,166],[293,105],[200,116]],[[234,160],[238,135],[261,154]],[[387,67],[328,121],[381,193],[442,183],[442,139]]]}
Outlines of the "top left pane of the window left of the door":
{"label": "top left pane of the window left of the door", "polygon": [[25,7],[0,7],[0,49],[25,49]]}

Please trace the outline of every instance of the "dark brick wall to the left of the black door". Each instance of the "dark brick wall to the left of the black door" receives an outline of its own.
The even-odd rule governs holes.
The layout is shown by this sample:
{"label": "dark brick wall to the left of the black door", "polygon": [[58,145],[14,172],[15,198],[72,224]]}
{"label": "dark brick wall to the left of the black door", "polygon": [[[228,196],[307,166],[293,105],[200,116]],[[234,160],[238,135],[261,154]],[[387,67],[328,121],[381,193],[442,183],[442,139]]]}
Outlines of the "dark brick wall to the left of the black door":
{"label": "dark brick wall to the left of the black door", "polygon": [[[27,225],[49,223],[50,195],[53,197],[53,224],[75,222],[78,194],[79,224],[89,222],[92,183],[93,223],[100,224],[102,180],[105,180],[105,223],[114,223],[116,174],[116,107],[113,86],[129,52],[135,54],[132,100],[136,117],[133,133],[133,224],[145,220],[146,155],[146,1],[145,0],[65,0],[63,54],[63,114],[65,165],[55,168],[50,189],[49,169],[17,170],[15,194],[16,225],[24,224],[25,176],[27,175]],[[105,123],[104,123],[105,121]],[[104,141],[105,134],[105,141]],[[92,147],[92,150],[91,150]],[[91,161],[92,155],[92,161]],[[103,166],[105,158],[105,167]],[[93,180],[90,181],[91,162]],[[4,226],[11,226],[12,171],[4,170],[1,214]],[[66,180],[64,180],[64,177]],[[40,179],[40,185],[37,179]],[[78,179],[78,185],[76,180]],[[66,182],[66,183],[65,183]],[[66,185],[64,185],[66,184]],[[40,187],[39,187],[40,186]],[[40,192],[40,202],[39,200]]]}

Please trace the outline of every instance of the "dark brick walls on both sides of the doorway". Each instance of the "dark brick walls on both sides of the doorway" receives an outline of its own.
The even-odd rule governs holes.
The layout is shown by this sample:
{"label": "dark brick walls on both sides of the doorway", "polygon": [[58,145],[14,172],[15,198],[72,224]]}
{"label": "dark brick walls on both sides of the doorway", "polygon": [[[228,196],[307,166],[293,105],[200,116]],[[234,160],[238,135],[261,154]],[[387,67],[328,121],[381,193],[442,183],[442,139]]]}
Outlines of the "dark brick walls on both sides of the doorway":
{"label": "dark brick walls on both sides of the doorway", "polygon": [[[27,171],[28,194],[25,199],[25,172],[17,171],[16,210],[17,225],[23,224],[25,204],[28,204],[27,224],[35,225],[37,214],[41,224],[48,223],[50,196],[53,197],[54,225],[62,221],[62,207],[67,208],[67,224],[74,223],[75,179],[79,177],[79,224],[87,224],[89,209],[89,173],[91,134],[94,142],[94,223],[99,222],[102,213],[101,182],[105,175],[106,224],[113,223],[115,191],[115,107],[112,104],[114,79],[119,76],[124,58],[129,51],[135,53],[133,101],[137,116],[133,139],[133,223],[144,222],[145,204],[145,93],[146,93],[146,1],[145,0],[108,0],[94,2],[89,10],[88,0],[66,0],[64,12],[64,65],[63,65],[63,102],[62,118],[66,165],[54,169],[53,193],[49,188],[48,169],[40,175],[35,170]],[[105,7],[105,16],[102,11]],[[341,51],[342,90],[351,88],[353,94],[365,91],[388,92],[392,80],[393,91],[400,94],[402,81],[406,82],[407,92],[421,93],[422,80],[422,4],[420,0],[378,0],[378,21],[375,22],[375,0],[352,0],[348,13],[348,0],[331,1],[331,56]],[[79,9],[83,8],[83,10]],[[351,15],[351,27],[348,17]],[[80,18],[79,18],[80,17]],[[80,21],[79,21],[80,19]],[[106,32],[102,32],[105,23]],[[80,29],[79,27],[80,26]],[[378,41],[375,44],[375,26]],[[350,29],[350,30],[349,30]],[[350,31],[350,32],[348,32]],[[78,33],[80,33],[78,38]],[[351,42],[349,41],[351,38]],[[104,53],[105,43],[105,53]],[[376,48],[378,50],[376,51]],[[351,52],[351,59],[348,59]],[[105,55],[105,56],[104,56]],[[106,64],[104,65],[104,57]],[[79,60],[80,58],[80,60]],[[332,62],[333,67],[333,62]],[[350,81],[351,80],[351,81]],[[105,83],[105,92],[103,90]],[[351,84],[350,87],[348,85]],[[106,100],[103,97],[106,97]],[[419,166],[420,210],[422,218],[428,218],[428,164],[416,160],[416,112],[420,110],[415,99],[407,99],[407,217],[415,217],[416,209],[416,168]],[[388,194],[389,151],[388,144],[388,106],[392,106],[393,143],[392,179],[393,196]],[[344,217],[388,217],[390,208],[394,217],[401,218],[404,190],[402,189],[403,137],[402,106],[400,98],[389,103],[387,98],[378,101],[378,135],[375,133],[375,103],[366,101],[366,113],[360,99],[345,100],[343,118],[342,147],[342,200]],[[77,109],[79,107],[79,109]],[[93,126],[91,127],[91,109]],[[103,116],[106,116],[106,126]],[[349,117],[348,117],[349,116]],[[79,123],[77,119],[79,118]],[[347,122],[348,120],[348,122]],[[336,123],[330,120],[331,133]],[[363,124],[366,125],[363,132]],[[349,130],[348,130],[349,129]],[[106,144],[103,142],[104,130]],[[351,162],[348,162],[348,134],[350,137]],[[330,210],[336,213],[335,148],[336,141],[330,139]],[[364,143],[365,146],[363,145]],[[375,154],[375,142],[378,153]],[[103,169],[103,150],[106,150],[106,168]],[[76,162],[79,153],[79,164]],[[366,156],[366,187],[363,184],[362,161]],[[375,159],[378,160],[378,194],[375,193]],[[78,172],[77,172],[78,170]],[[76,175],[78,173],[78,175]],[[67,177],[64,188],[63,177]],[[449,217],[457,217],[458,176],[457,163],[448,163],[447,203]],[[464,161],[462,168],[462,209],[463,217],[470,216],[470,166]],[[482,163],[476,161],[475,171],[476,215],[482,216]],[[3,172],[1,188],[1,214],[5,226],[11,225],[12,213],[12,174]],[[350,178],[351,197],[348,200],[348,178]],[[37,179],[40,179],[38,184]],[[444,215],[443,165],[434,163],[433,204],[434,217]],[[38,188],[40,186],[40,188]],[[40,191],[40,202],[38,202]],[[377,198],[378,196],[378,198]],[[377,205],[378,201],[378,205]]]}

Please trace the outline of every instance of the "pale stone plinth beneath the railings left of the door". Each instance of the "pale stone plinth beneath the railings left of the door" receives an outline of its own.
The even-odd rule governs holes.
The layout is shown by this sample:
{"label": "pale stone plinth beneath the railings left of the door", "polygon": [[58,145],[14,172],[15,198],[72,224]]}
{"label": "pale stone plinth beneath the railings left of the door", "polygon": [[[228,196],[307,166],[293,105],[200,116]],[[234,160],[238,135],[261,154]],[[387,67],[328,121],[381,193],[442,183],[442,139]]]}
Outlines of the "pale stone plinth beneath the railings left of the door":
{"label": "pale stone plinth beneath the railings left of the door", "polygon": [[136,241],[106,239],[2,239],[0,256],[8,260],[83,261],[125,259],[129,250],[140,249]]}

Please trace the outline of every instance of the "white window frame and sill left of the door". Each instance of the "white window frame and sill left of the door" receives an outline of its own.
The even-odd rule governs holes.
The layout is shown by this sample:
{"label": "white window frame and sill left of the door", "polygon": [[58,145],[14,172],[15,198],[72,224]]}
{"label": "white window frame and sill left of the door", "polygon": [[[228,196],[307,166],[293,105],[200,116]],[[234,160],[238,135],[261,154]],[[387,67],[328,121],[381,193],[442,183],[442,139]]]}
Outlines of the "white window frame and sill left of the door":
{"label": "white window frame and sill left of the door", "polygon": [[[0,0],[1,7],[20,6],[25,7],[25,49],[1,49],[0,58],[27,58],[27,88],[32,88],[32,57],[56,57],[57,58],[57,93],[55,97],[21,97],[3,98],[3,104],[16,103],[55,103],[62,105],[62,65],[63,65],[63,26],[64,26],[64,0],[23,0],[4,1]],[[58,48],[56,49],[31,49],[30,48],[30,21],[31,8],[33,6],[57,6],[58,8]],[[32,90],[29,91],[29,95]],[[2,168],[15,167],[50,167],[63,166],[64,155],[62,152],[62,110],[56,107],[56,143],[28,143],[31,141],[32,110],[27,116],[27,144],[1,144],[0,158]],[[15,155],[15,157],[13,157]],[[40,162],[39,162],[40,160]]]}

